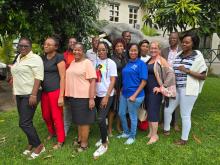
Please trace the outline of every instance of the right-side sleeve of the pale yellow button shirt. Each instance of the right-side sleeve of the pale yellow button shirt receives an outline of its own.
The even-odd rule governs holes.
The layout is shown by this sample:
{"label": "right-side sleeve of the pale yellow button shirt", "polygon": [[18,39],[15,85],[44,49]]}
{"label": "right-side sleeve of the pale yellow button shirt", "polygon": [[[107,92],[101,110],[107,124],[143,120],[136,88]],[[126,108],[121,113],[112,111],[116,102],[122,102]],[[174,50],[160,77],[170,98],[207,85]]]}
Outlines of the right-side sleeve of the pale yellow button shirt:
{"label": "right-side sleeve of the pale yellow button shirt", "polygon": [[31,63],[31,69],[34,73],[34,78],[43,81],[44,79],[44,64],[40,56],[36,55]]}

